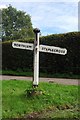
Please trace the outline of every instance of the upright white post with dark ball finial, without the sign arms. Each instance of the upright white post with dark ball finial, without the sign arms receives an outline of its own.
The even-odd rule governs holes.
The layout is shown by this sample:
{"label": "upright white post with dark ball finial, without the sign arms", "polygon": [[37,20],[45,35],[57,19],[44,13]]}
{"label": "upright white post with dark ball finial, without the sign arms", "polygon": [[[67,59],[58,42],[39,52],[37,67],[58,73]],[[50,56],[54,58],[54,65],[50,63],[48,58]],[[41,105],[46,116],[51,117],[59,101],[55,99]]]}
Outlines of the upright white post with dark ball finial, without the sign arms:
{"label": "upright white post with dark ball finial, without the sign arms", "polygon": [[34,76],[33,87],[37,87],[39,84],[39,32],[38,28],[35,28],[35,40],[34,40]]}

